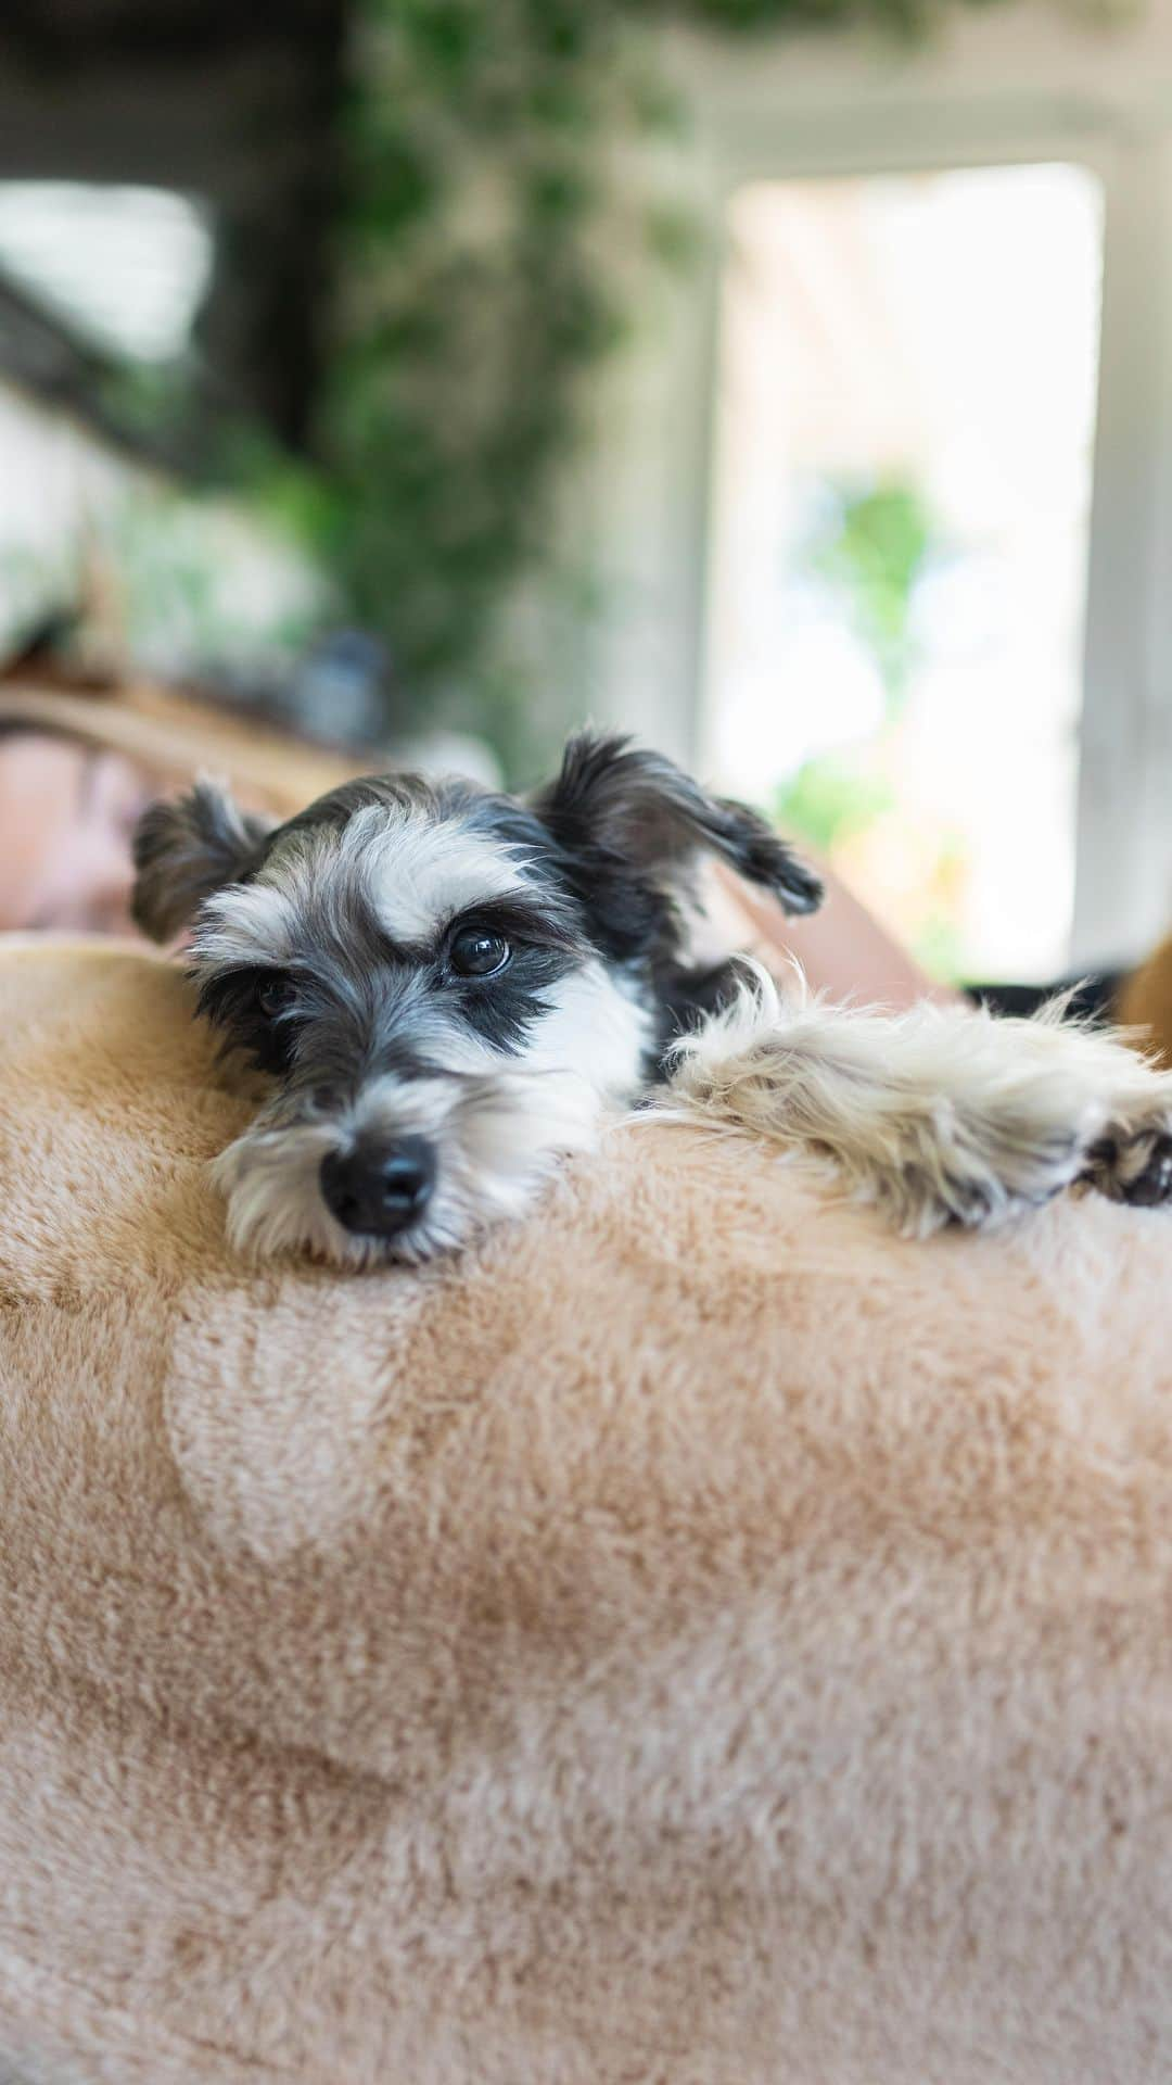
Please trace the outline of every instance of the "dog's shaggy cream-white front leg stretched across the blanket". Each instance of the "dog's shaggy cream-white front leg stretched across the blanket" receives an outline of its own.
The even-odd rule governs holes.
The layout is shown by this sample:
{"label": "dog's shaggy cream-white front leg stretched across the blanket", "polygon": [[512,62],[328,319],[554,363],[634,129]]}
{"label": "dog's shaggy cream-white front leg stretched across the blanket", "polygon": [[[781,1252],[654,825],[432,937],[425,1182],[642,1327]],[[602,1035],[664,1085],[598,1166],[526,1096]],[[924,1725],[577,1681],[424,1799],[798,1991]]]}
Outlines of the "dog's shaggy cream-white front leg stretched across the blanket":
{"label": "dog's shaggy cream-white front leg stretched across the blanket", "polygon": [[688,1036],[659,1113],[832,1159],[901,1230],[986,1226],[1089,1180],[1172,1197],[1172,1074],[1109,1034],[922,1003],[874,1013],[784,1001],[761,974]]}

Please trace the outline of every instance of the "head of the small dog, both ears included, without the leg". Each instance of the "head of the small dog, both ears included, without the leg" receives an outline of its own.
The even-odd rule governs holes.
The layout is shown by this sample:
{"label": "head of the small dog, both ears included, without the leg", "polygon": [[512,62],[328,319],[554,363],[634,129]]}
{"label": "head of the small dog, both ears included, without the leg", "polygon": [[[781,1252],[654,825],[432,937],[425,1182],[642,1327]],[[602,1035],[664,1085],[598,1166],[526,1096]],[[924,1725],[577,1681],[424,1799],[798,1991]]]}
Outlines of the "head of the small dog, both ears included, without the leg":
{"label": "head of the small dog, both ears included, without the leg", "polygon": [[206,782],[136,836],[138,924],[190,936],[200,1011],[273,1078],[217,1161],[234,1241],[425,1259],[526,1207],[719,995],[682,961],[699,857],[811,911],[742,805],[621,738],[528,803],[371,776],[284,826]]}

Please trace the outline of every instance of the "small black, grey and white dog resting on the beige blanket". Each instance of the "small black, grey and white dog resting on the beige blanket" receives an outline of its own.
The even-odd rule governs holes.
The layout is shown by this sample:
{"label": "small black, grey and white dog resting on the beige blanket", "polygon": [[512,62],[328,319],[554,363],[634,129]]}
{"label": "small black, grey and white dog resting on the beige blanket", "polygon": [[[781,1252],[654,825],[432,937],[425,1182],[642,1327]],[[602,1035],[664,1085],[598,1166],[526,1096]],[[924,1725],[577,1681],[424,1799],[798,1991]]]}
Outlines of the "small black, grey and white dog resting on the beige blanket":
{"label": "small black, grey and white dog resting on the beige blanket", "polygon": [[190,934],[198,1011],[271,1080],[215,1166],[234,1243],[423,1261],[649,1097],[832,1159],[913,1234],[1076,1180],[1172,1195],[1172,1074],[1053,1011],[882,1015],[694,965],[705,855],[788,913],[822,899],[753,811],[624,738],[573,738],[528,801],[371,776],[275,828],[206,782],[152,805],[136,919]]}

